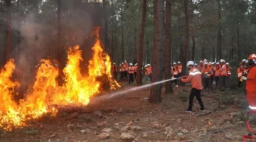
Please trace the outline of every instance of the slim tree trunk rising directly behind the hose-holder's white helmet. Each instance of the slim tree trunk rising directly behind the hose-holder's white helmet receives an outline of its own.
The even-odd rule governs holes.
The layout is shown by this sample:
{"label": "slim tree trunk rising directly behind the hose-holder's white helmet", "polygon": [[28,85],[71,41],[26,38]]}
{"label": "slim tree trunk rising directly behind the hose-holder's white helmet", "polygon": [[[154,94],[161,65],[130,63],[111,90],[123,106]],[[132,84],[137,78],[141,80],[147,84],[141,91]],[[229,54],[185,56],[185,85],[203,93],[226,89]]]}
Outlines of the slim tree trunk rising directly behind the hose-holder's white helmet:
{"label": "slim tree trunk rising directly behind the hose-holder's white helmet", "polygon": [[189,41],[189,23],[188,23],[188,0],[184,0],[184,13],[185,13],[185,24],[186,24],[186,39],[184,49],[182,53],[182,72],[181,75],[186,74],[186,62],[188,55],[188,41]]}

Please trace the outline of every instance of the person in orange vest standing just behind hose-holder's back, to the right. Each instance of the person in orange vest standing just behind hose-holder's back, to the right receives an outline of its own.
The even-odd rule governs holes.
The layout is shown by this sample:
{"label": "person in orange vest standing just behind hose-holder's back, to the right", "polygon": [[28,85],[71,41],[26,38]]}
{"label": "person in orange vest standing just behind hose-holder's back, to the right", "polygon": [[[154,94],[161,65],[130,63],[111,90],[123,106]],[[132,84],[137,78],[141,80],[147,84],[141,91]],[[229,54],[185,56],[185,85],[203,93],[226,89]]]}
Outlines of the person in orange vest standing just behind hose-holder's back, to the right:
{"label": "person in orange vest standing just behind hose-holder's back, to the right", "polygon": [[210,87],[210,67],[208,67],[208,62],[204,62],[204,67],[202,70],[203,75],[203,89],[212,89]]}

